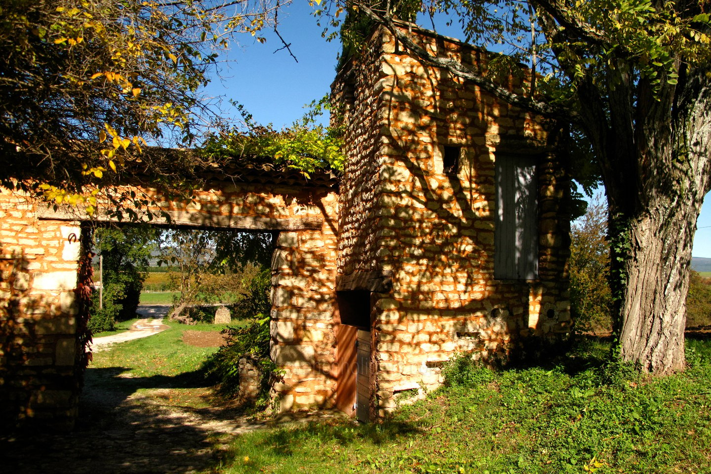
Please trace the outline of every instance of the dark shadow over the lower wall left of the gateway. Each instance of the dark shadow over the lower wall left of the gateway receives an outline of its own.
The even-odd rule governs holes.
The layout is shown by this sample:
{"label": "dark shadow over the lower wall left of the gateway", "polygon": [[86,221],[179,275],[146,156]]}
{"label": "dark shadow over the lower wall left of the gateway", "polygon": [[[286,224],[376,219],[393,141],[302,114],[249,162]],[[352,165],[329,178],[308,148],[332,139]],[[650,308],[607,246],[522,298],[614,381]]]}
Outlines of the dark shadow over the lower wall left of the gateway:
{"label": "dark shadow over the lower wall left of the gateway", "polygon": [[61,303],[31,293],[32,260],[0,249],[0,419],[17,426],[47,409],[58,416],[43,425],[64,426],[77,401],[75,327],[53,318]]}

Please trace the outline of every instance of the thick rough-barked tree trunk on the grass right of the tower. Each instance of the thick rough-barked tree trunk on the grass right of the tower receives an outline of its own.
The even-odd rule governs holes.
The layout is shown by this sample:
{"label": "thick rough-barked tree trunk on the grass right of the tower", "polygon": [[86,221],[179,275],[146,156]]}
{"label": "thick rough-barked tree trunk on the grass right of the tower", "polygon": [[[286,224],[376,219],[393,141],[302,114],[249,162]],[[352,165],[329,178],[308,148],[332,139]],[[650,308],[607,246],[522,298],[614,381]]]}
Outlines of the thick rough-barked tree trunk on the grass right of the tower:
{"label": "thick rough-barked tree trunk on the grass right of the tower", "polygon": [[607,133],[603,164],[619,354],[656,375],[684,368],[691,250],[710,188],[711,87],[685,79],[674,95],[639,96],[634,120],[611,107],[635,124],[634,139]]}

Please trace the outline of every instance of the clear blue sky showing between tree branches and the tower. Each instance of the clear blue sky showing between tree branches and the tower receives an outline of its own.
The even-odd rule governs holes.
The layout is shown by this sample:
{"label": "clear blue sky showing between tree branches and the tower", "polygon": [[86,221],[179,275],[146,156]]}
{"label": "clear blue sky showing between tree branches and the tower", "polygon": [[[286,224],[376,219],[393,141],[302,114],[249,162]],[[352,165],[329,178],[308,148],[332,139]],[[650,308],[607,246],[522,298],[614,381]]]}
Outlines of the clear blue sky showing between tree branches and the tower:
{"label": "clear blue sky showing between tree branches and the tower", "polygon": [[[251,36],[243,36],[240,45],[233,45],[226,55],[229,63],[222,65],[220,78],[208,87],[208,95],[235,99],[244,105],[257,122],[272,123],[279,129],[299,119],[314,99],[324,97],[336,75],[336,61],[340,43],[326,42],[321,28],[311,16],[313,9],[306,0],[294,4],[279,14],[279,32],[292,53],[294,61],[282,47],[279,38],[265,32],[266,43],[258,43]],[[439,33],[459,37],[456,28],[437,24]],[[426,23],[429,24],[429,23]],[[225,114],[236,114],[223,102]],[[702,209],[694,239],[694,257],[711,258],[711,204]]]}

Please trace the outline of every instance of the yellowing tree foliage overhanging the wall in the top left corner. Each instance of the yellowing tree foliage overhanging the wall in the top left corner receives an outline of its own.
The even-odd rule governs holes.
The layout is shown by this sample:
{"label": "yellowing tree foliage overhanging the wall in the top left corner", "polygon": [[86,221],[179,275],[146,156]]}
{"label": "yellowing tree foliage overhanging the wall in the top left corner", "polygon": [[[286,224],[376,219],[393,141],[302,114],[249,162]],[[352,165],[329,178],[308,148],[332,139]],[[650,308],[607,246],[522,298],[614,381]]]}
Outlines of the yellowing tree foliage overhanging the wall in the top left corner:
{"label": "yellowing tree foliage overhanging the wall in the top left corner", "polygon": [[200,90],[219,51],[269,26],[275,6],[2,0],[0,11],[0,183],[43,180],[55,203],[93,207],[93,195],[73,191],[117,183],[134,163],[165,184],[191,166],[141,147],[198,138],[213,114]]}

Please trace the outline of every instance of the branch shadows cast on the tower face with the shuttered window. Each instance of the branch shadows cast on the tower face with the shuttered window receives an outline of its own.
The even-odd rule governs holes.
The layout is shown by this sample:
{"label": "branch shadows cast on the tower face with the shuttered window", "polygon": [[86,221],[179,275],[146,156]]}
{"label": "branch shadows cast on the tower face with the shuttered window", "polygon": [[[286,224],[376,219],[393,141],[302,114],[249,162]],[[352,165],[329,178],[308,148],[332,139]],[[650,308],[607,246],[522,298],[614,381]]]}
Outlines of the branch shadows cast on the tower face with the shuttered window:
{"label": "branch shadows cast on the tower face with the shuttered window", "polygon": [[[483,53],[475,54],[482,56],[476,61],[485,62]],[[508,104],[496,104],[471,83],[447,72],[434,74],[427,67],[423,68],[426,77],[413,79],[409,72],[398,75],[401,67],[390,67],[392,79],[387,79],[391,83],[386,87],[391,87],[392,93],[383,109],[385,129],[390,131],[385,162],[392,166],[383,168],[381,200],[392,205],[386,204],[391,213],[382,221],[391,222],[394,232],[404,238],[386,243],[392,248],[383,254],[398,266],[395,271],[408,274],[408,281],[399,278],[395,282],[394,291],[407,313],[426,315],[434,310],[442,316],[439,328],[424,328],[429,335],[417,334],[425,352],[429,346],[454,339],[456,348],[452,350],[488,351],[491,357],[503,357],[502,343],[547,333],[555,329],[557,321],[555,304],[544,304],[557,281],[548,274],[541,275],[535,284],[526,281],[539,279],[532,269],[538,271],[539,261],[551,259],[550,249],[538,245],[544,229],[535,208],[537,196],[538,209],[547,198],[536,180],[536,175],[549,172],[544,153],[547,144],[536,136],[527,115]],[[510,80],[503,87],[521,86]],[[460,98],[451,99],[456,94]],[[451,147],[456,148],[459,162],[446,163]],[[506,212],[515,218],[508,224],[510,235],[499,240],[508,242],[513,253],[518,252],[518,266],[526,271],[518,272],[525,276],[508,276],[508,280],[494,275],[494,247],[498,246],[495,213],[501,185],[492,153],[504,160],[529,155],[523,157],[525,167],[514,167],[509,173],[514,183],[509,186],[512,199]],[[533,163],[540,168],[537,173],[532,171]],[[551,188],[557,186],[555,176],[546,179]],[[502,231],[498,232],[501,237]],[[565,234],[558,225],[545,232]],[[395,242],[395,237],[390,239]],[[525,254],[520,252],[522,242],[527,247]],[[402,244],[405,247],[398,248]],[[451,278],[447,289],[435,282],[442,276]],[[540,310],[535,311],[539,305]],[[400,311],[398,322],[407,322],[404,311]],[[429,340],[422,340],[424,337]],[[512,349],[510,356],[518,357],[521,351]]]}

